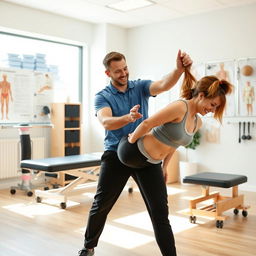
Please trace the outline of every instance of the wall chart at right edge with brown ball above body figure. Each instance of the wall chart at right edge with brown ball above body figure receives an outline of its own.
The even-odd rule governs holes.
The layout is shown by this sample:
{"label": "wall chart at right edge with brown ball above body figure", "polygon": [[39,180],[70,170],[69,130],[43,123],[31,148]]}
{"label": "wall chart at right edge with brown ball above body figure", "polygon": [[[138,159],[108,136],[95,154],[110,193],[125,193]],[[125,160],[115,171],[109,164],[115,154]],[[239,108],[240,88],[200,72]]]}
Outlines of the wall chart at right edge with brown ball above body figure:
{"label": "wall chart at right edge with brown ball above body figure", "polygon": [[238,60],[238,113],[256,116],[256,58]]}

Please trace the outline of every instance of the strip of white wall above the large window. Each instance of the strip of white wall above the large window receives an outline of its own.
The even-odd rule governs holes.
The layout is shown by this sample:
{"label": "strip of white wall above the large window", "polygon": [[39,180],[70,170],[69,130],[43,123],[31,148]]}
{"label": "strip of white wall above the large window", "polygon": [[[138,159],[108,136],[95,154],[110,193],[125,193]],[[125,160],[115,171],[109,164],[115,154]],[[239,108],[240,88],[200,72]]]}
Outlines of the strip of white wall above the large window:
{"label": "strip of white wall above the large window", "polygon": [[0,2],[0,27],[91,44],[93,24]]}

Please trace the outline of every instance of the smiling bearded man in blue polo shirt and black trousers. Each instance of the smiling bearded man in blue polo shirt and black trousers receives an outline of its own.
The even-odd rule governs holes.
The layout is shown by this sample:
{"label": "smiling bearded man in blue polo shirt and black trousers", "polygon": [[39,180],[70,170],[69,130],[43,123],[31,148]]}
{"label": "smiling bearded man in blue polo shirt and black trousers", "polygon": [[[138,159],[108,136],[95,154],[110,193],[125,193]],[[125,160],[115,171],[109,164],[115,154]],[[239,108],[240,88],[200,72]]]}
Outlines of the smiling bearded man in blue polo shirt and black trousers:
{"label": "smiling bearded man in blue polo shirt and black trousers", "polygon": [[[168,220],[167,191],[161,165],[157,168],[133,169],[117,157],[117,146],[124,135],[134,131],[148,117],[148,99],[171,89],[192,61],[179,50],[176,69],[159,81],[130,81],[125,56],[108,53],[103,64],[110,84],[95,97],[96,115],[105,128],[104,154],[97,192],[90,210],[85,232],[84,248],[79,256],[93,256],[106,218],[127,180],[133,177],[138,184],[149,212],[158,246],[164,256],[175,256],[175,242]],[[139,112],[140,111],[140,112]]]}

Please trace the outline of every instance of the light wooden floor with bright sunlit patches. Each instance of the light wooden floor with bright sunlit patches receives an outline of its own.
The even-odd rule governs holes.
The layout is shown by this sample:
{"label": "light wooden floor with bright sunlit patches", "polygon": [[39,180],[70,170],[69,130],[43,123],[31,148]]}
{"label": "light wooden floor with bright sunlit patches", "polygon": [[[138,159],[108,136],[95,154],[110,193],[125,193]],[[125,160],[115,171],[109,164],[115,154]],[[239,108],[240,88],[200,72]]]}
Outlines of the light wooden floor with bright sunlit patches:
{"label": "light wooden floor with bright sunlit patches", "polygon": [[[218,189],[219,190],[219,189]],[[229,195],[229,189],[219,190]],[[76,256],[82,247],[84,228],[95,188],[70,198],[66,210],[59,202],[36,203],[22,191],[0,191],[0,256]],[[170,222],[179,256],[256,255],[256,193],[243,192],[251,205],[248,217],[226,212],[223,229],[212,219],[191,224],[182,211],[189,199],[199,196],[200,186],[168,185]],[[96,256],[160,256],[151,222],[136,188],[123,191],[109,214]]]}

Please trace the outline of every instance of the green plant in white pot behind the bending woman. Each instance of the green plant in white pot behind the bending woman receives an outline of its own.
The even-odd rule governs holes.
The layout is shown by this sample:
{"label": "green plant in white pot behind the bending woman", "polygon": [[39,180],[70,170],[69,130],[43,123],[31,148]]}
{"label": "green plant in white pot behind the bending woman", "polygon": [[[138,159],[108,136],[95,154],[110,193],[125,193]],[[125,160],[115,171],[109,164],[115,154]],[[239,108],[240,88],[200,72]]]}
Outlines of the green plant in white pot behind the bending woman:
{"label": "green plant in white pot behind the bending woman", "polygon": [[200,145],[201,133],[198,130],[193,137],[192,142],[186,146],[186,160],[180,161],[180,182],[182,183],[183,178],[187,175],[192,175],[197,172],[197,163],[188,161],[188,153],[189,151],[195,150],[198,145]]}

